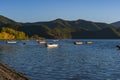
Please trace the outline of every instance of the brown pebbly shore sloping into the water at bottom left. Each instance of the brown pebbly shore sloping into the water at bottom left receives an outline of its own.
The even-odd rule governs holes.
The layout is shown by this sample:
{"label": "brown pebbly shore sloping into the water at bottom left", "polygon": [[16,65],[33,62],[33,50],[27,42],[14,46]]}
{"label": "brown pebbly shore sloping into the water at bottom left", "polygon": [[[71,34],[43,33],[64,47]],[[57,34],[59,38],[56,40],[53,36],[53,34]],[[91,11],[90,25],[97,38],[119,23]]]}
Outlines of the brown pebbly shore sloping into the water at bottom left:
{"label": "brown pebbly shore sloping into the water at bottom left", "polygon": [[30,80],[22,73],[15,71],[7,65],[0,62],[0,80]]}

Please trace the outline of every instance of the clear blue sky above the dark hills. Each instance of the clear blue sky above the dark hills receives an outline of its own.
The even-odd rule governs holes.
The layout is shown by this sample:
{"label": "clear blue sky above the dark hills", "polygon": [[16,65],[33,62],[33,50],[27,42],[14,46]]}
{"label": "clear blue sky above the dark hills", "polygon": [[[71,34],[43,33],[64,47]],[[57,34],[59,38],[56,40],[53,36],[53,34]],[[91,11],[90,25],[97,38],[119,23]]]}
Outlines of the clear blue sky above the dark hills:
{"label": "clear blue sky above the dark hills", "polygon": [[120,0],[0,0],[0,15],[17,22],[84,19],[120,21]]}

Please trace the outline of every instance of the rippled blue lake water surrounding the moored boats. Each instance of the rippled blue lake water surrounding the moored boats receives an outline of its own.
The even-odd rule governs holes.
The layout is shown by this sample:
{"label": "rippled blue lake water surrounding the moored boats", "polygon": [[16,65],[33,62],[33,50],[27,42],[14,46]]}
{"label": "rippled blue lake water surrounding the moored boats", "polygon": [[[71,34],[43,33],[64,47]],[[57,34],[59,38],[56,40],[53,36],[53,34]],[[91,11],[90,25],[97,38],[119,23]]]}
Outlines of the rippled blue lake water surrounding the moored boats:
{"label": "rippled blue lake water surrounding the moored boats", "polygon": [[[93,44],[74,45],[74,41]],[[58,48],[49,49],[36,41],[17,44],[1,41],[0,60],[32,80],[120,80],[120,50],[115,47],[120,40],[56,43]]]}

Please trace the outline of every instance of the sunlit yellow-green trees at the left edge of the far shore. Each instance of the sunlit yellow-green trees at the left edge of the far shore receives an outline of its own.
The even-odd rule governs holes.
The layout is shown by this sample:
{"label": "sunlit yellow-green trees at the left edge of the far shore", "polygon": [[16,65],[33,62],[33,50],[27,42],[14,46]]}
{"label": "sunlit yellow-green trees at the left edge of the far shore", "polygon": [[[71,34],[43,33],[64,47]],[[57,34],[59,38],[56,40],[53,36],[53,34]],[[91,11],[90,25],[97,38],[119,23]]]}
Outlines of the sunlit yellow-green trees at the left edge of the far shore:
{"label": "sunlit yellow-green trees at the left edge of the far shore", "polygon": [[26,40],[26,39],[41,39],[38,35],[28,37],[24,32],[17,31],[12,28],[3,27],[0,31],[0,40]]}

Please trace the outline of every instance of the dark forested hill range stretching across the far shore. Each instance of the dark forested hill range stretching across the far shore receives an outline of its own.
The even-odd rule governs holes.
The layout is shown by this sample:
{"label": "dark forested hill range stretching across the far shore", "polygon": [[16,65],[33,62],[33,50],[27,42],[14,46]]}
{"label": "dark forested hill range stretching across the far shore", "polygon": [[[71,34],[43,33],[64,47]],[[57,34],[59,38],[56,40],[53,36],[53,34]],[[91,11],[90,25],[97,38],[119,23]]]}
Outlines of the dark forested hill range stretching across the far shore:
{"label": "dark forested hill range stretching across the far shore", "polygon": [[120,31],[111,24],[86,20],[56,19],[48,22],[18,23],[0,16],[0,29],[9,27],[24,32],[29,38],[54,39],[112,39],[120,38]]}

